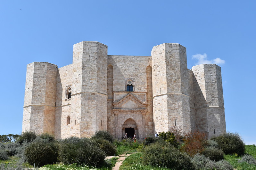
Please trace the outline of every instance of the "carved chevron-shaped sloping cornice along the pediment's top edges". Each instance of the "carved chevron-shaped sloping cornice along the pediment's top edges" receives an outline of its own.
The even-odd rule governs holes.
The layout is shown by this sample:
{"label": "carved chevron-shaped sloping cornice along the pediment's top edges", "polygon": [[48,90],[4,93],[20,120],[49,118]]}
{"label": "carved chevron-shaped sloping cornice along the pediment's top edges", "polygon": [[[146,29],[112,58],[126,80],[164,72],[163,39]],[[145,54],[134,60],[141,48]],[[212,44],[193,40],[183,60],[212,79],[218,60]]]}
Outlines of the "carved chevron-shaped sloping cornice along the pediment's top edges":
{"label": "carved chevron-shaped sloping cornice along the pediment's top edges", "polygon": [[148,103],[147,101],[143,102],[142,100],[140,100],[139,98],[137,98],[135,95],[133,95],[132,93],[128,93],[125,97],[123,97],[122,99],[120,99],[117,102],[113,102],[113,106],[115,108],[120,108],[123,104],[125,104],[127,101],[132,100],[134,101],[139,107],[147,107]]}

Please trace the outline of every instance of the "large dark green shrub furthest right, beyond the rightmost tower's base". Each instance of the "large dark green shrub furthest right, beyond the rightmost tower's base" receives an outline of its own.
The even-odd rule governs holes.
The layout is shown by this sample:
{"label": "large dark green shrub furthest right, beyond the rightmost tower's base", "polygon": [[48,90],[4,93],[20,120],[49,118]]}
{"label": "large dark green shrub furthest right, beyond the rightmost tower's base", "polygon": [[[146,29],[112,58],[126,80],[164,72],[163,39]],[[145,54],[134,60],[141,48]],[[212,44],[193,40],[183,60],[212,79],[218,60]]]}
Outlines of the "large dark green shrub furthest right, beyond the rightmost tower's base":
{"label": "large dark green shrub furthest right, beyond the rightmost tower's base", "polygon": [[211,140],[215,140],[225,154],[244,154],[245,145],[238,133],[227,132],[218,137],[211,137]]}

